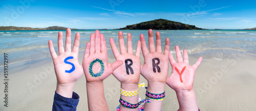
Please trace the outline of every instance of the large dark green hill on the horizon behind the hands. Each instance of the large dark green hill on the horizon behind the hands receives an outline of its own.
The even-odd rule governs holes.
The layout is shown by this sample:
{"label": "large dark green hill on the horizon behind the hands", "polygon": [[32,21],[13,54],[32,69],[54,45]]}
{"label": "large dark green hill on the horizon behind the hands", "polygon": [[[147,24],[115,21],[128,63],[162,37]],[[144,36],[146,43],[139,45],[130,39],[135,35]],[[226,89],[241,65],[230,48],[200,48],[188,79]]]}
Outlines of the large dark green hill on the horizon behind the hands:
{"label": "large dark green hill on the horizon behind the hands", "polygon": [[181,22],[170,21],[166,19],[156,19],[137,24],[127,25],[116,30],[205,30],[195,25],[184,24]]}

